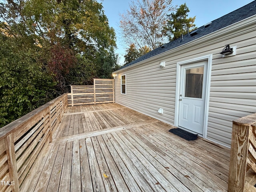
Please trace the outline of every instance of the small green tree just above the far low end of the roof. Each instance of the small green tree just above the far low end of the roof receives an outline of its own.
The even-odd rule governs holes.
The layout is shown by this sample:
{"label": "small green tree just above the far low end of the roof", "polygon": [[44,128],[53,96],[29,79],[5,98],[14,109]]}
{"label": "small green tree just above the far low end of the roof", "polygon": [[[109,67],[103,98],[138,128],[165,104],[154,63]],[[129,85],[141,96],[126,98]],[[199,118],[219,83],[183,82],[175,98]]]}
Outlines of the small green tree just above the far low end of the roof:
{"label": "small green tree just above the far low end of the roof", "polygon": [[124,64],[130,63],[150,51],[150,48],[147,46],[143,46],[141,49],[137,50],[134,44],[130,44],[130,48],[126,50],[126,55],[124,56]]}

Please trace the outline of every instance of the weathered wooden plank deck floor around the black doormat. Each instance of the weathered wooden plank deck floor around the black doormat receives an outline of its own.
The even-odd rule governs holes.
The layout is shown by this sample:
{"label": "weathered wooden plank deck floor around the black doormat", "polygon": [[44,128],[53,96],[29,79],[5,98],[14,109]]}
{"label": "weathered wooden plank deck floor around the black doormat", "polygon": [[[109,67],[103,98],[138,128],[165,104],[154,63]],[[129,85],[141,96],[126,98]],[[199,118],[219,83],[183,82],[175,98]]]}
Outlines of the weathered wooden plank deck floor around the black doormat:
{"label": "weathered wooden plank deck floor around the black doormat", "polygon": [[116,103],[68,107],[21,191],[223,192],[230,149]]}

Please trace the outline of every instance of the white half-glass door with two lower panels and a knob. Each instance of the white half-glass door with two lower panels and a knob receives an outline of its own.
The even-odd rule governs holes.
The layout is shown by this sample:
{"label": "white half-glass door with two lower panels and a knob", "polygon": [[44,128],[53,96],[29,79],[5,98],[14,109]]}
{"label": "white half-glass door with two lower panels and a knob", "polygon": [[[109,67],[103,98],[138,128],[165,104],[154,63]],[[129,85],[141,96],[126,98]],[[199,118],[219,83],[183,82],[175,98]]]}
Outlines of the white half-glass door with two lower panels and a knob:
{"label": "white half-glass door with two lower panels and a knob", "polygon": [[178,126],[203,134],[207,60],[181,66]]}

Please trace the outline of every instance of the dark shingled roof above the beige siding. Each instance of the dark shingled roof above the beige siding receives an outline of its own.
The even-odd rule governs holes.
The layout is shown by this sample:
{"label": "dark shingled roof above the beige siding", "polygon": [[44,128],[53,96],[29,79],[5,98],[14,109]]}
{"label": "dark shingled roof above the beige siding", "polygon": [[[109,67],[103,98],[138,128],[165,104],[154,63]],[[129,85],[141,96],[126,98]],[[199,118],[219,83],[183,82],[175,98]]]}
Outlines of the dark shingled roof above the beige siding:
{"label": "dark shingled roof above the beige siding", "polygon": [[204,26],[201,26],[201,27],[197,28],[196,30],[190,32],[190,34],[184,34],[182,40],[180,38],[178,38],[176,40],[173,40],[167,44],[164,44],[164,45],[148,52],[147,54],[139,57],[138,59],[126,64],[125,66],[122,66],[120,69],[126,68],[126,67],[136,64],[140,61],[146,60],[148,58],[151,58],[153,56],[156,56],[158,54],[161,54],[161,53],[171,50],[173,48],[176,48],[180,45],[186,44],[190,41],[193,41],[202,36],[205,36],[207,34],[210,34],[212,32],[220,30],[224,27],[230,26],[236,22],[244,20],[244,19],[246,19],[250,16],[253,16],[255,14],[256,14],[256,0],[252,1],[251,3],[239,8],[229,14],[226,14],[216,20],[213,20],[212,22],[209,22],[208,24],[210,24],[210,25],[208,25],[208,26],[204,25]]}

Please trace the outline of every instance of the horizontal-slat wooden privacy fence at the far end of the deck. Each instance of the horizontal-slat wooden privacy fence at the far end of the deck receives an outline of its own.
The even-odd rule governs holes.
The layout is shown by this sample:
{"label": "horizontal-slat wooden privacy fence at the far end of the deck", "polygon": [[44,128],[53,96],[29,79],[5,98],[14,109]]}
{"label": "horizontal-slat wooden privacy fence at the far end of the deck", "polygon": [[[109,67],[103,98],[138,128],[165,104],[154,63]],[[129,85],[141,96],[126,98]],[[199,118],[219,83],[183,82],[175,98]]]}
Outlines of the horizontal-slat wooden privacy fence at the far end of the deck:
{"label": "horizontal-slat wooden privacy fence at the far end of the deck", "polygon": [[94,85],[71,86],[68,106],[114,102],[114,79],[94,79]]}

